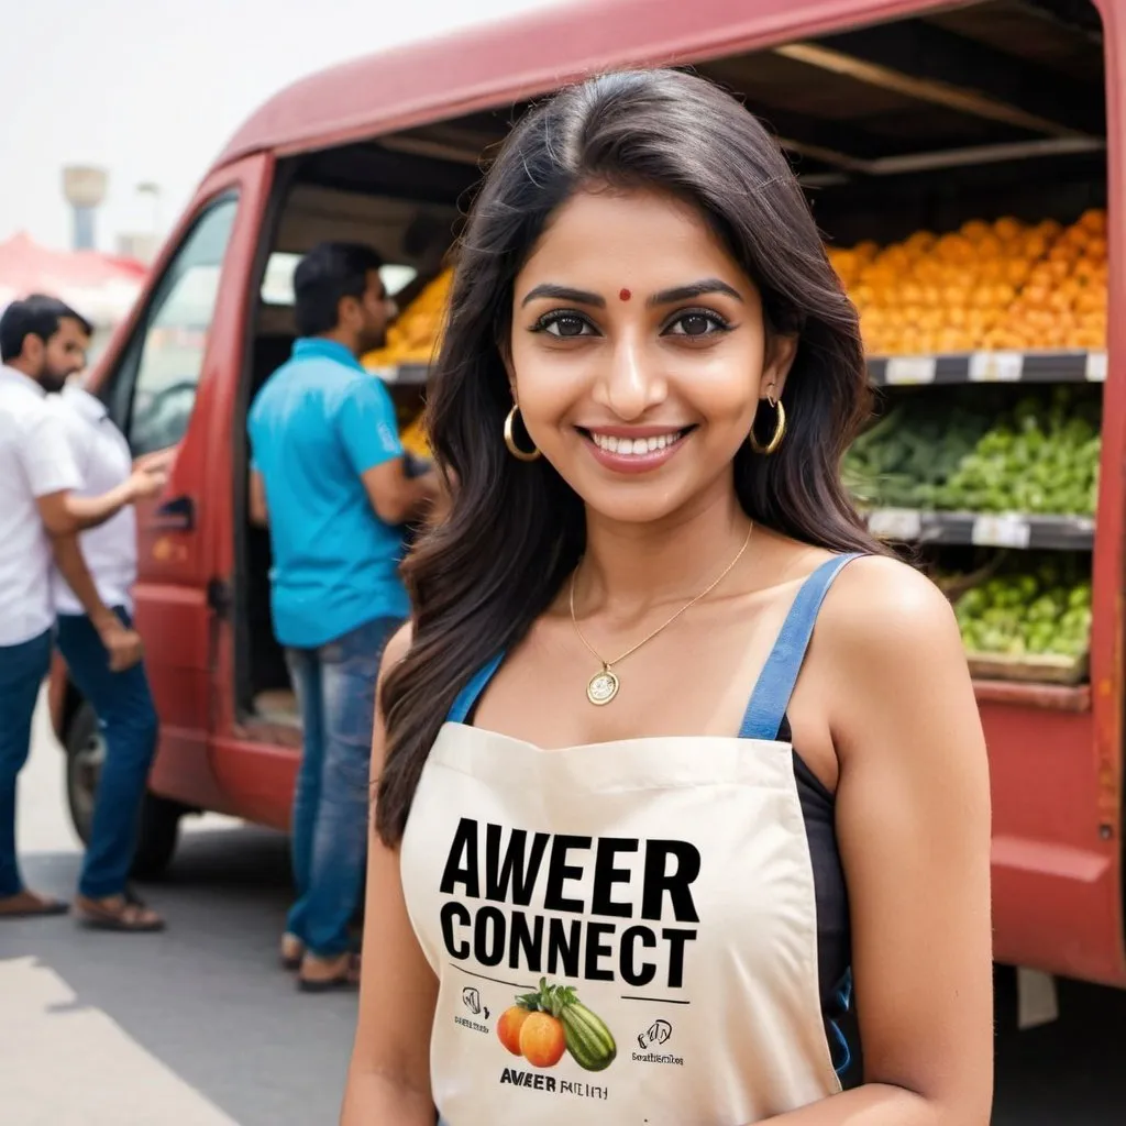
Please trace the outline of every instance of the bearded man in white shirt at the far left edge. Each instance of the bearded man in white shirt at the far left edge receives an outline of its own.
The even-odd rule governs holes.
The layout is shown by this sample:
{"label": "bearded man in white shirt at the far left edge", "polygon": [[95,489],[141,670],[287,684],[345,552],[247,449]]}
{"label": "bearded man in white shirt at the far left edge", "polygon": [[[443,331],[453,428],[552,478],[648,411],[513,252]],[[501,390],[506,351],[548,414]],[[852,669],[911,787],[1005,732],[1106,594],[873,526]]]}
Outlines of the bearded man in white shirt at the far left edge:
{"label": "bearded man in white shirt at the far left edge", "polygon": [[24,886],[16,860],[16,779],[30,745],[32,714],[54,638],[54,566],[98,635],[107,665],[141,660],[141,641],[107,607],[78,535],[163,485],[138,466],[98,495],[83,477],[57,404],[48,400],[86,366],[91,327],[62,302],[34,296],[0,316],[0,921],[60,914],[66,905]]}

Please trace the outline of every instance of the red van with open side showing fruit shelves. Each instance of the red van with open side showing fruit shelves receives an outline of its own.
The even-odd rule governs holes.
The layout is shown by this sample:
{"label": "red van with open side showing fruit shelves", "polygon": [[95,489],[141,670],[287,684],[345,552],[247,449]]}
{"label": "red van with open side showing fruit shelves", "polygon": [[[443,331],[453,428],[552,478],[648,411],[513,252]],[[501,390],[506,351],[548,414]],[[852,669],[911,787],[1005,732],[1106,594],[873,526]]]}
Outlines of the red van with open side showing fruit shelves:
{"label": "red van with open side showing fruit shelves", "polygon": [[[267,102],[203,180],[95,373],[137,453],[178,452],[164,495],[140,512],[136,619],[161,743],[138,867],[154,874],[168,863],[188,811],[287,823],[301,732],[270,629],[269,544],[247,517],[245,417],[293,341],[296,257],[327,238],[373,243],[404,304],[446,263],[482,154],[529,99],[591,71],[691,64],[771,125],[826,238],[863,260],[874,244],[908,248],[908,265],[911,253],[941,254],[933,235],[944,232],[963,232],[950,238],[964,250],[973,230],[976,249],[947,265],[981,272],[997,253],[981,233],[990,224],[1045,234],[1043,262],[1017,263],[1008,289],[946,286],[932,300],[924,287],[917,312],[888,298],[885,329],[918,313],[929,334],[912,321],[895,337],[911,355],[874,356],[873,379],[888,402],[935,410],[955,396],[982,410],[1001,396],[989,409],[1007,409],[1007,395],[1073,385],[1102,414],[1097,511],[874,517],[888,535],[946,553],[944,566],[973,573],[989,569],[990,552],[1003,549],[1011,565],[1038,551],[1092,583],[1081,665],[1061,676],[1051,662],[1016,661],[1010,676],[999,661],[978,672],[995,794],[997,956],[1126,984],[1126,324],[1115,319],[1109,351],[1105,343],[1108,247],[1110,297],[1126,293],[1126,212],[1111,204],[1109,221],[1098,217],[1126,189],[1124,17],[1123,0],[601,0],[337,66]],[[1053,240],[1072,230],[1057,253]],[[912,240],[920,231],[931,234]],[[1034,265],[1058,289],[1031,285]],[[1082,309],[1069,304],[1072,270]],[[868,289],[858,300],[878,305]],[[1017,328],[958,343],[966,325],[1018,314]],[[1021,336],[1029,327],[1038,336]],[[381,375],[406,423],[425,367]],[[64,671],[52,701],[84,831],[96,729]]]}

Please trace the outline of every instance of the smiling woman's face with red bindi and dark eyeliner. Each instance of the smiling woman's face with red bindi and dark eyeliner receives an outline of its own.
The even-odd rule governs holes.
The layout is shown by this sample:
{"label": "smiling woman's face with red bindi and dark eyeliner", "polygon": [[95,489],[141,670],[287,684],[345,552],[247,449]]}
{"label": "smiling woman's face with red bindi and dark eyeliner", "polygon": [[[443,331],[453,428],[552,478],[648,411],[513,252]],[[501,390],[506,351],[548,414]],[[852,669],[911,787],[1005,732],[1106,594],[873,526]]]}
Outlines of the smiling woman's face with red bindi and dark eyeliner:
{"label": "smiling woman's face with red bindi and dark eyeliner", "polygon": [[767,356],[751,279],[670,196],[601,191],[555,214],[513,287],[512,394],[528,435],[600,515],[650,522],[733,488]]}

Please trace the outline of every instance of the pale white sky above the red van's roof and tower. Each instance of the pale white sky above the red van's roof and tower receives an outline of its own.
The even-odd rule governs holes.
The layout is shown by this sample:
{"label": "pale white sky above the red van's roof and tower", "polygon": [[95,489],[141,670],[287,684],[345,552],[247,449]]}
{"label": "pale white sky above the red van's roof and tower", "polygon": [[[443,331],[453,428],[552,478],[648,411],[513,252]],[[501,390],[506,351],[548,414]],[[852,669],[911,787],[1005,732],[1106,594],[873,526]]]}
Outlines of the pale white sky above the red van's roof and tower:
{"label": "pale white sky above the red van's roof and tower", "polygon": [[[552,0],[0,0],[0,240],[69,247],[64,164],[109,172],[98,244],[176,220],[239,124],[294,79]],[[564,0],[565,2],[565,0]]]}

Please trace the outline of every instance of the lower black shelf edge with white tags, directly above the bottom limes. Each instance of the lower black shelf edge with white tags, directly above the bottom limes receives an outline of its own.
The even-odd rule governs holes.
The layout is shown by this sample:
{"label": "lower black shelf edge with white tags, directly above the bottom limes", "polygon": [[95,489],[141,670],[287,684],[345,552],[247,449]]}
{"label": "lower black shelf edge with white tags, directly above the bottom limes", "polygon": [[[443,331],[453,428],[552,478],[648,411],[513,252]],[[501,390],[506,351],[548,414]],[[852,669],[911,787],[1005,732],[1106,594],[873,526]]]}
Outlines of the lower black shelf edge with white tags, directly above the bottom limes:
{"label": "lower black shelf edge with white tags, directly above the bottom limes", "polygon": [[1094,520],[1087,516],[877,508],[868,513],[868,530],[901,544],[974,544],[1021,551],[1090,551],[1094,544]]}

